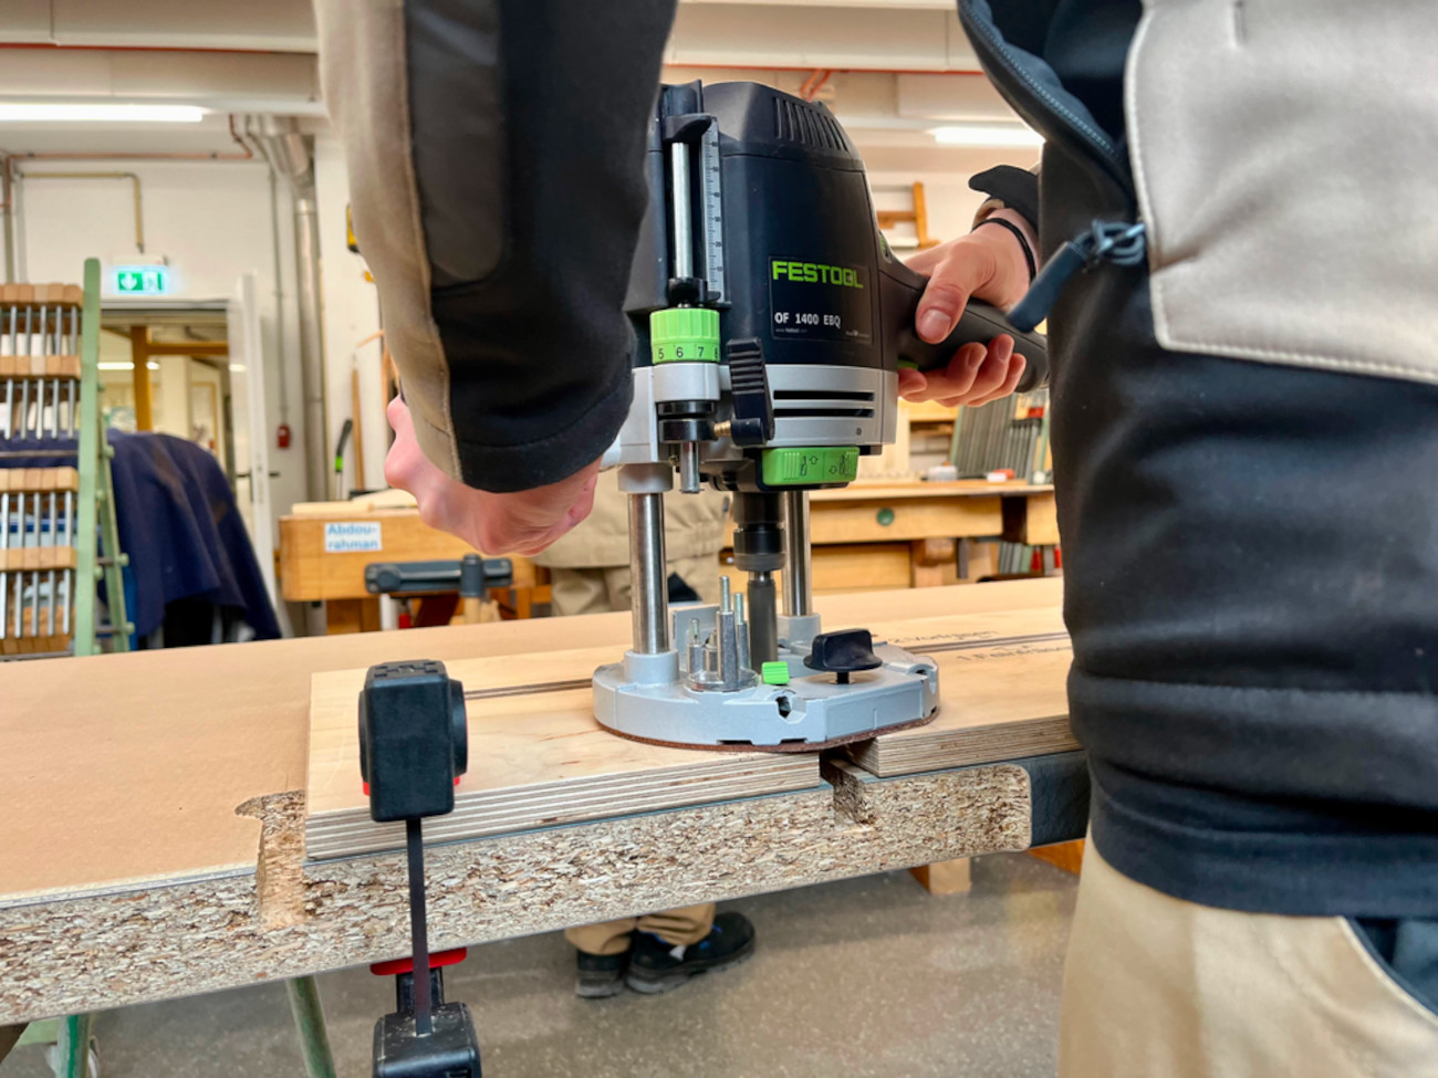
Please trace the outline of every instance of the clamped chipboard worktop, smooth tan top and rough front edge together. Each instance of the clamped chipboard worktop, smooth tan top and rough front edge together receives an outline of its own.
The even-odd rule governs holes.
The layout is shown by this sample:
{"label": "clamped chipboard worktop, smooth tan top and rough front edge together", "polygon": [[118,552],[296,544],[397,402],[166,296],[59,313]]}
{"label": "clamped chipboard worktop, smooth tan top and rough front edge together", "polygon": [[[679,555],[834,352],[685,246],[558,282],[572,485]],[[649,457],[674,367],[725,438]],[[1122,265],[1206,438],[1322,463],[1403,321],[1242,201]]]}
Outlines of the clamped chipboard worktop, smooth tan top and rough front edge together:
{"label": "clamped chipboard worktop, smooth tan top and rough front edge together", "polygon": [[[820,607],[830,625],[1008,609],[1051,619],[1058,589],[1025,581]],[[618,654],[628,634],[626,614],[605,614],[0,667],[0,1025],[403,954],[403,857],[303,858],[311,674],[600,644]],[[1051,727],[1063,677],[1051,650],[1041,658],[1051,676],[1012,691]],[[942,707],[962,707],[962,678],[951,681]],[[1070,749],[1060,732],[1024,752]],[[978,765],[879,779],[835,759],[812,789],[443,845],[429,868],[431,943],[1030,845],[1031,770]]]}

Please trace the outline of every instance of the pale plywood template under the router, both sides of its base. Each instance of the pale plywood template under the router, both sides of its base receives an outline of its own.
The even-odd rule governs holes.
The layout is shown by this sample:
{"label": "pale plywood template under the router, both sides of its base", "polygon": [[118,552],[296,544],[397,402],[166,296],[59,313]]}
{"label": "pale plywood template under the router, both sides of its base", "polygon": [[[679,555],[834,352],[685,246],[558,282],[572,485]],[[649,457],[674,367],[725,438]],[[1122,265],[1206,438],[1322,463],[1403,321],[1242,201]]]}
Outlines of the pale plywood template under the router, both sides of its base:
{"label": "pale plywood template under the router, both sides of its base", "polygon": [[[873,628],[879,638],[932,654],[942,704],[929,727],[854,746],[861,766],[902,775],[1073,747],[1063,670],[1055,665],[1044,678],[1031,673],[1035,657],[1067,665],[1057,611]],[[584,648],[450,663],[450,676],[469,699],[470,770],[456,791],[454,812],[430,822],[427,838],[479,838],[820,783],[817,755],[673,749],[608,733],[594,720],[588,678],[617,655],[615,648]],[[1025,661],[1012,661],[1021,657]],[[361,789],[355,709],[362,684],[364,670],[316,674],[312,681],[305,828],[311,858],[404,842],[403,826],[370,819]],[[926,737],[933,726],[939,729]]]}

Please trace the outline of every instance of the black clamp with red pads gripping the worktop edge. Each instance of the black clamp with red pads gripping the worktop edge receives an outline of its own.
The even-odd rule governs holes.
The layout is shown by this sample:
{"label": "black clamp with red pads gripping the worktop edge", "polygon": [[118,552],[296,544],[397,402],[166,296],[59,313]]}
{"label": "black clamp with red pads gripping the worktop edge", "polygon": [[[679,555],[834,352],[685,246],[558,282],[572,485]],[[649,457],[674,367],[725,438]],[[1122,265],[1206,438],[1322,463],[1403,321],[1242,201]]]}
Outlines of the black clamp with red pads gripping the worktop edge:
{"label": "black clamp with red pads gripping the worktop edge", "polygon": [[360,773],[377,824],[404,821],[414,962],[400,963],[397,1006],[374,1028],[374,1078],[480,1078],[479,1036],[463,1003],[444,1002],[430,962],[421,819],[454,811],[469,766],[464,687],[443,663],[370,667],[360,693]]}

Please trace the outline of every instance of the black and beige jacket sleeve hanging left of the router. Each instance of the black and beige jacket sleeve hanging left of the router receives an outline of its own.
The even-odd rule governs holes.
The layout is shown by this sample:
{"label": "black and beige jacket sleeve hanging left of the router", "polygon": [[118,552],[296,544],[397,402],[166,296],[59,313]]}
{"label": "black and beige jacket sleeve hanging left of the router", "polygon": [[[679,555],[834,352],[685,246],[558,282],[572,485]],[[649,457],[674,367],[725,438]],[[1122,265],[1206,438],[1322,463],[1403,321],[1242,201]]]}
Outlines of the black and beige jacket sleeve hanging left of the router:
{"label": "black and beige jacket sleeve hanging left of the router", "polygon": [[360,249],[426,456],[561,480],[631,394],[624,290],[674,0],[316,0]]}

